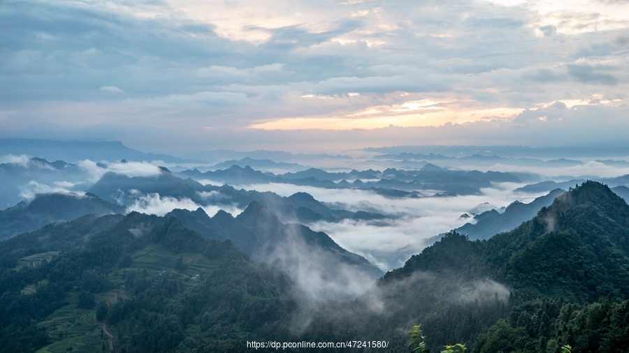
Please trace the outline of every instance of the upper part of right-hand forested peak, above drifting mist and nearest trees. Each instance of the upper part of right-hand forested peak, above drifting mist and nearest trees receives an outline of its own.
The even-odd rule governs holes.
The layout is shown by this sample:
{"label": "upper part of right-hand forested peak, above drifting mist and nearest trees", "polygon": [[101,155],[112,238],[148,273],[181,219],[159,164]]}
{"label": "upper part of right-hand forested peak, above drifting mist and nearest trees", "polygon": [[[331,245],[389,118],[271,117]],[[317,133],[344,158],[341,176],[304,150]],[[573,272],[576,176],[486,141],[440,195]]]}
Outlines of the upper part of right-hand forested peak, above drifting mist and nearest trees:
{"label": "upper part of right-hand forested peak, above drifting mist and nearest trees", "polygon": [[586,181],[511,232],[486,241],[451,233],[384,281],[413,271],[451,272],[581,302],[609,294],[629,298],[628,230],[627,203]]}

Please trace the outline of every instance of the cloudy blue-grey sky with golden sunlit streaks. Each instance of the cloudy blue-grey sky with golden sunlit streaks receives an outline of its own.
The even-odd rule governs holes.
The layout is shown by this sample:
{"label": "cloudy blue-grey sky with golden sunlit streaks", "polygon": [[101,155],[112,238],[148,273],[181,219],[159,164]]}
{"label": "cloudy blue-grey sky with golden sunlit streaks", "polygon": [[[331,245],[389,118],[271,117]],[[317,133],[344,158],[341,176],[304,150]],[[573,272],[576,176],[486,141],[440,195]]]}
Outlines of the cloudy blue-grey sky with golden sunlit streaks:
{"label": "cloudy blue-grey sky with golden sunlit streaks", "polygon": [[629,1],[0,2],[0,138],[144,151],[602,144]]}

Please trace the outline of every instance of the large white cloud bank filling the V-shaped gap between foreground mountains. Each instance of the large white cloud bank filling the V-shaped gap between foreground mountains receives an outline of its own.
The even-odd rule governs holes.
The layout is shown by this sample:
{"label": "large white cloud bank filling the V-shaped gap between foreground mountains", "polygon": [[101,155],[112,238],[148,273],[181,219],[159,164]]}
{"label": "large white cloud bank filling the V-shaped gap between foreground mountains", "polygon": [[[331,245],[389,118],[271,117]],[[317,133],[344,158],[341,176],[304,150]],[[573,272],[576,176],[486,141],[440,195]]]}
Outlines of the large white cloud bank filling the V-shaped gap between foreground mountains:
{"label": "large white cloud bank filling the V-shaped gap between foreground mountains", "polygon": [[482,189],[484,195],[419,199],[389,199],[369,190],[324,189],[277,183],[237,187],[261,192],[273,191],[282,196],[305,192],[335,208],[397,214],[400,218],[384,226],[356,220],[310,225],[312,230],[325,232],[343,248],[363,255],[383,270],[389,270],[402,266],[410,255],[421,252],[426,246],[426,239],[465,224],[467,220],[461,219],[461,214],[474,211],[485,202],[500,208],[514,200],[528,203],[542,195],[512,193],[512,190],[522,185],[503,183],[496,188]]}

